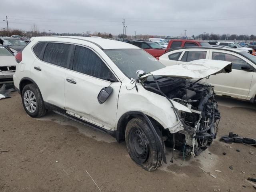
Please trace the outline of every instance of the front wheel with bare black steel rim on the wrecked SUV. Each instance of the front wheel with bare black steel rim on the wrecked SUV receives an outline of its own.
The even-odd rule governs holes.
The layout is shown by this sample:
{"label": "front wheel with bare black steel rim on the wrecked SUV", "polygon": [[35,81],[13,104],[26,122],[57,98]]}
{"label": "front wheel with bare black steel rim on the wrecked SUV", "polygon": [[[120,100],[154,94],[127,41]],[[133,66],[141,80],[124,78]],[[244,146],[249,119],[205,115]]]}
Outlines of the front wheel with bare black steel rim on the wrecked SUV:
{"label": "front wheel with bare black steel rim on the wrecked SUV", "polygon": [[[160,130],[156,128],[156,132],[164,141]],[[126,125],[125,130],[126,147],[130,158],[143,169],[154,171],[162,166],[163,158],[159,146],[156,144],[154,133],[149,126],[141,118],[133,118]]]}

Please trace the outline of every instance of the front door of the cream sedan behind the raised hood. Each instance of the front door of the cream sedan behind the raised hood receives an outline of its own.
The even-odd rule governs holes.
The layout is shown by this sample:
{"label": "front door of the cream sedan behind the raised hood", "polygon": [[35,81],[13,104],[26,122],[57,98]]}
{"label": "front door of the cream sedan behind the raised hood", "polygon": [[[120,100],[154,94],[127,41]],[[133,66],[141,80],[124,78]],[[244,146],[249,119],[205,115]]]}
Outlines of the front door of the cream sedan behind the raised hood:
{"label": "front door of the cream sedan behind the raised hood", "polygon": [[[232,72],[212,75],[207,80],[207,83],[214,86],[216,94],[246,99],[253,77],[252,71],[241,68],[244,64],[251,66],[247,60],[239,54],[221,50],[211,50],[210,59],[232,62]],[[253,69],[252,66],[251,68]]]}

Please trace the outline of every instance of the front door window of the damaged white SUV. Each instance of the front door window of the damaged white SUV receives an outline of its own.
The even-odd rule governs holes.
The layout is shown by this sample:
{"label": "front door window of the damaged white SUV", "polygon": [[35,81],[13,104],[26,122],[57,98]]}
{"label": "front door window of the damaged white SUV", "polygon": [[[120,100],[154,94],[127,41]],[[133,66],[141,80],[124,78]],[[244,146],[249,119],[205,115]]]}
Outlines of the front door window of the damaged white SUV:
{"label": "front door window of the damaged white SUV", "polygon": [[100,57],[85,47],[76,46],[73,70],[96,78],[116,81],[116,78]]}

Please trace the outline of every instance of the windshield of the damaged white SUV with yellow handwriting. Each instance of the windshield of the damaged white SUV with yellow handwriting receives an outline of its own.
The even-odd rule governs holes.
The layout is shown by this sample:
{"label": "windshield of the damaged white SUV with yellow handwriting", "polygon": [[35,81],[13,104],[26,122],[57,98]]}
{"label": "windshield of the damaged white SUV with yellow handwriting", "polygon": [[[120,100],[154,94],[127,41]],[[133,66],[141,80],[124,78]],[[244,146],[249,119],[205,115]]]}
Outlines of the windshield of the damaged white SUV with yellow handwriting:
{"label": "windshield of the damaged white SUV with yellow handwriting", "polygon": [[141,49],[109,49],[104,52],[128,78],[137,79],[137,70],[149,73],[165,67]]}

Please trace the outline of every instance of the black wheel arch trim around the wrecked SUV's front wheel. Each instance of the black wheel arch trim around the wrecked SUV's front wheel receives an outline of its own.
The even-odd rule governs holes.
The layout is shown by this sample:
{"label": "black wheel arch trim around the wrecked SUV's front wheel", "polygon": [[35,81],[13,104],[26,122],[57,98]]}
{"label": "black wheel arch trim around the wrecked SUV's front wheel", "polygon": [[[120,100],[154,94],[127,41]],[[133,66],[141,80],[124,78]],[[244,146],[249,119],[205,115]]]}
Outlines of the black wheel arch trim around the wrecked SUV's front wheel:
{"label": "black wheel arch trim around the wrecked SUV's front wheel", "polygon": [[118,142],[120,141],[121,138],[123,138],[123,133],[122,133],[122,130],[124,129],[122,123],[123,123],[123,120],[124,118],[126,118],[127,116],[129,115],[137,115],[137,116],[142,116],[144,117],[144,119],[146,120],[150,130],[153,132],[154,134],[154,137],[156,139],[156,144],[159,146],[160,148],[160,151],[162,153],[162,156],[163,156],[163,160],[164,160],[164,163],[167,163],[166,162],[166,156],[165,156],[165,153],[164,153],[164,147],[162,145],[162,141],[161,141],[161,138],[159,137],[159,135],[157,134],[156,132],[156,129],[154,128],[152,122],[150,121],[150,119],[148,118],[148,116],[146,114],[144,114],[143,112],[141,111],[130,111],[130,112],[126,112],[125,114],[123,114],[120,119],[118,120],[118,124],[117,124],[117,132],[116,134],[118,134],[118,136],[116,135],[116,140],[118,140]]}

